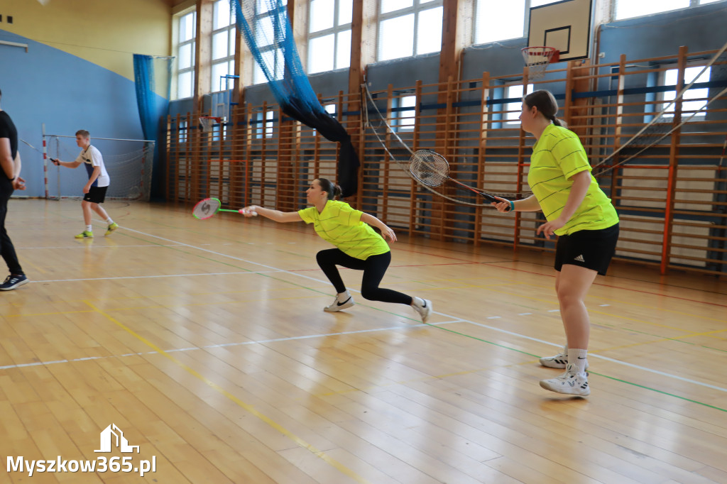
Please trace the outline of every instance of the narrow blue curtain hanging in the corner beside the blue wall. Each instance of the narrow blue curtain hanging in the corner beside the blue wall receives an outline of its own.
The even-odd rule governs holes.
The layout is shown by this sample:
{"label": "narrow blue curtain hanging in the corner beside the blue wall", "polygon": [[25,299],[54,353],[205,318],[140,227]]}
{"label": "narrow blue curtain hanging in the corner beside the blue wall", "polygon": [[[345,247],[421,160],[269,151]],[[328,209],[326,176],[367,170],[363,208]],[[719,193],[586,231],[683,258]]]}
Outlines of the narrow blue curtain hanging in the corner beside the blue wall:
{"label": "narrow blue curtain hanging in the corner beside the blue wall", "polygon": [[[162,152],[159,149],[158,140],[160,139],[160,129],[166,126],[166,124],[161,124],[161,116],[166,115],[169,110],[169,89],[167,89],[167,99],[158,96],[154,92],[154,61],[155,57],[151,55],[134,54],[134,79],[136,81],[141,129],[145,140],[154,141],[154,159],[151,172],[151,195],[153,198],[161,195],[161,180],[163,177],[160,176],[160,153]],[[169,59],[165,59],[165,62],[170,68],[172,62]],[[171,84],[171,78],[169,82]]]}

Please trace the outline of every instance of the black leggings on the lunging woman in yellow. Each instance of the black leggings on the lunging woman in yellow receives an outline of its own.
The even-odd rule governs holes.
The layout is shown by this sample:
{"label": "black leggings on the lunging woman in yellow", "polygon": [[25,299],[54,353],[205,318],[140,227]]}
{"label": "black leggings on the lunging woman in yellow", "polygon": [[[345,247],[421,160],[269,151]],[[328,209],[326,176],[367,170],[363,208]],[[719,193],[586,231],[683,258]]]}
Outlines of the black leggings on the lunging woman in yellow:
{"label": "black leggings on the lunging woman in yellow", "polygon": [[369,256],[366,260],[356,259],[346,255],[341,249],[326,249],[316,254],[316,261],[321,266],[326,277],[331,281],[336,292],[345,292],[346,286],[338,273],[337,265],[348,269],[363,270],[361,279],[361,296],[371,301],[398,302],[411,304],[411,296],[391,289],[381,289],[379,283],[384,278],[387,267],[391,262],[391,252]]}

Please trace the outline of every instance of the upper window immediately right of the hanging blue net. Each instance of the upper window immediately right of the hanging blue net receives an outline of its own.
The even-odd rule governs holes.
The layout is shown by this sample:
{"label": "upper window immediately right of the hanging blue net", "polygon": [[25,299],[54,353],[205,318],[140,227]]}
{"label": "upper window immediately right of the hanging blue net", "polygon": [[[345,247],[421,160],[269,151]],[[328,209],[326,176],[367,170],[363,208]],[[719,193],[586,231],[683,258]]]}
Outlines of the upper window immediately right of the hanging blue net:
{"label": "upper window immediately right of the hanging blue net", "polygon": [[348,68],[351,63],[350,0],[310,0],[308,73]]}

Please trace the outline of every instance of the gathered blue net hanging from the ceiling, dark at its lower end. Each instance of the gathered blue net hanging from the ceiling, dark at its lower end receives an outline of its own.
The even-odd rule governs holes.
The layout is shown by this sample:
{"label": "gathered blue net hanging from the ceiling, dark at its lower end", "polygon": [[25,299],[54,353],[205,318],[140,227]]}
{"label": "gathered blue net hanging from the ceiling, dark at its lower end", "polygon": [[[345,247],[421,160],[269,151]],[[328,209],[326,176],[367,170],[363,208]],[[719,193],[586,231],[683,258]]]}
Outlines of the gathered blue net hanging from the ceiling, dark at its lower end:
{"label": "gathered blue net hanging from the ceiling, dark at its lower end", "polygon": [[303,70],[288,9],[283,0],[230,0],[237,27],[283,113],[316,129],[326,140],[340,142],[338,184],[343,196],[356,193],[358,156],[346,129],[326,113]]}

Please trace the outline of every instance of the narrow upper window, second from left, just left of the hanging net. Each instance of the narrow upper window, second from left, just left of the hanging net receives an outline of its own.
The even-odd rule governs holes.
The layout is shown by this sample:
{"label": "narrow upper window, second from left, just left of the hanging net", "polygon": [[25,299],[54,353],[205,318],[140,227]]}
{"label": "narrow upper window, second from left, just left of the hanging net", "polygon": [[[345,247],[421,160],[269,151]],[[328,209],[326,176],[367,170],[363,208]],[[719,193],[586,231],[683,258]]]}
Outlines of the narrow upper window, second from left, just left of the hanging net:
{"label": "narrow upper window, second from left, just left of the hanging net", "polygon": [[212,16],[212,92],[230,89],[229,79],[235,73],[235,17],[230,15],[230,0],[217,0]]}

